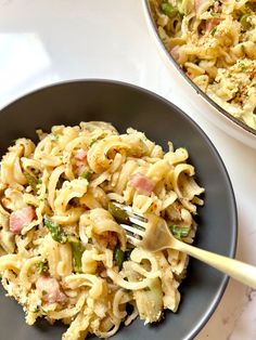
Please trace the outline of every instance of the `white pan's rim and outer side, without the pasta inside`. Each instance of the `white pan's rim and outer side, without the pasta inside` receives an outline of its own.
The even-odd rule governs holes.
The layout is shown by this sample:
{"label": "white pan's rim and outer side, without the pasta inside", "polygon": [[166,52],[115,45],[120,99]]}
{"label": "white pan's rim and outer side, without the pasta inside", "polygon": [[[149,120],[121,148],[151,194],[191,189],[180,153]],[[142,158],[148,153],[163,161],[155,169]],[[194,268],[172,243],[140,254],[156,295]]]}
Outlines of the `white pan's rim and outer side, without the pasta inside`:
{"label": "white pan's rim and outer side, without the pasta inside", "polygon": [[[172,81],[175,76],[176,84],[184,88],[187,99],[191,101],[191,104],[194,105],[199,113],[204,115],[206,119],[214,122],[231,136],[240,140],[253,148],[256,148],[256,130],[233,117],[226,109],[214,102],[185,75],[180,65],[171,56],[158,35],[157,25],[155,23],[154,13],[150,2],[151,0],[143,0],[145,18],[154,41],[163,56],[163,61],[171,71]],[[168,75],[166,76],[168,77]]]}

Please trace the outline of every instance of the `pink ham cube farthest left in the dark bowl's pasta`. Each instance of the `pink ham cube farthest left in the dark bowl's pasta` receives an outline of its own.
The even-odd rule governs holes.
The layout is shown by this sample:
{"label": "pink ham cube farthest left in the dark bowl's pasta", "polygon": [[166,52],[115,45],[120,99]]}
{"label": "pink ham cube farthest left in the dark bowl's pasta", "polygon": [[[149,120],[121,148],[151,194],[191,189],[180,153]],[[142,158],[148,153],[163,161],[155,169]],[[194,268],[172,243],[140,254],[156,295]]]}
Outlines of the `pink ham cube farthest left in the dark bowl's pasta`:
{"label": "pink ham cube farthest left in the dark bowl's pasta", "polygon": [[13,211],[10,215],[10,231],[20,234],[24,226],[28,225],[35,218],[35,209],[26,207]]}

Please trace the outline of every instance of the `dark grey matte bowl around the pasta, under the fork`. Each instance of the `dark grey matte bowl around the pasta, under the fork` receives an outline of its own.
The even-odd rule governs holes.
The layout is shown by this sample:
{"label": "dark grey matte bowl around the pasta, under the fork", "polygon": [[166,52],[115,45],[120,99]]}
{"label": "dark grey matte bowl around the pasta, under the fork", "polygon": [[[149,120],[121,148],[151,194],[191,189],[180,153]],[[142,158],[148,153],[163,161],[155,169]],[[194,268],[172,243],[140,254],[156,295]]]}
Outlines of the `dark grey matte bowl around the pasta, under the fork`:
{"label": "dark grey matte bowl around the pasta, under the fork", "polygon": [[[120,132],[133,127],[166,147],[167,141],[184,146],[195,166],[197,182],[206,189],[205,206],[199,210],[195,245],[233,257],[236,245],[236,208],[226,168],[214,145],[185,114],[171,103],[143,89],[114,81],[64,82],[29,93],[0,112],[0,153],[14,139],[36,140],[35,130],[49,131],[54,125],[77,125],[81,120],[112,122]],[[181,285],[177,314],[144,326],[139,319],[123,327],[113,339],[193,339],[216,309],[228,277],[191,259]],[[22,308],[0,293],[1,339],[61,339],[65,326],[38,322],[25,324]]]}

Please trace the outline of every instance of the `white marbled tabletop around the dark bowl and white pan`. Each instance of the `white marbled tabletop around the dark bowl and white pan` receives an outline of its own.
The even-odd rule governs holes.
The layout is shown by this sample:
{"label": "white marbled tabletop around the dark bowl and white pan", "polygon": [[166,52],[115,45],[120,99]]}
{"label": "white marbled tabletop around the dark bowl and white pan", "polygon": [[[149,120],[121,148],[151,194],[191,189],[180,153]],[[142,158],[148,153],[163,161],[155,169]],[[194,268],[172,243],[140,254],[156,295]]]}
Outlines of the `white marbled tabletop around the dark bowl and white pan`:
{"label": "white marbled tabletop around the dark bowl and white pan", "polygon": [[[189,105],[151,38],[141,0],[0,0],[0,107],[41,86],[106,78],[152,90],[190,115],[217,147],[239,211],[236,258],[256,265],[256,151]],[[256,339],[256,291],[230,280],[196,340]]]}

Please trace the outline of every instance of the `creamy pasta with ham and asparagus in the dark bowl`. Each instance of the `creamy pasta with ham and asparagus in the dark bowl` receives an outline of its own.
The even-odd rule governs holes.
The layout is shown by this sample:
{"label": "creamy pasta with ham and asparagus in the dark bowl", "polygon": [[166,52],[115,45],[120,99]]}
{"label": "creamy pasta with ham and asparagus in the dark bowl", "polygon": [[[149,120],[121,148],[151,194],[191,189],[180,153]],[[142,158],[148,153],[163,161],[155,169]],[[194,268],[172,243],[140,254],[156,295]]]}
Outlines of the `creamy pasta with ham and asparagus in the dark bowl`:
{"label": "creamy pasta with ham and asparagus in the dark bowl", "polygon": [[176,312],[188,257],[135,248],[112,201],[165,218],[192,243],[204,189],[187,149],[169,142],[165,153],[142,132],[97,121],[37,133],[37,144],[10,146],[0,168],[0,274],[27,324],[60,319],[63,340],[107,338],[138,315]]}

